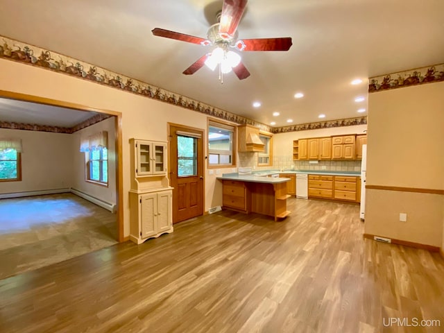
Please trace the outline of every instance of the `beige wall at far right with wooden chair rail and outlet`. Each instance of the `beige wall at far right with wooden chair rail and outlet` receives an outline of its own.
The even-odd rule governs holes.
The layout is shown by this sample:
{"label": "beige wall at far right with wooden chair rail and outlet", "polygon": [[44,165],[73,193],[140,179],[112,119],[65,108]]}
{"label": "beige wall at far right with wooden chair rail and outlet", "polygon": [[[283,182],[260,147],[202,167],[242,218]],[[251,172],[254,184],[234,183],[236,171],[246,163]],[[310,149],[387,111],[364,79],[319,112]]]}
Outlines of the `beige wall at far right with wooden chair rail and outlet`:
{"label": "beige wall at far right with wooden chair rail and outlet", "polygon": [[[443,128],[444,83],[370,94],[367,185],[444,189]],[[443,207],[443,195],[368,189],[365,232],[441,247]]]}

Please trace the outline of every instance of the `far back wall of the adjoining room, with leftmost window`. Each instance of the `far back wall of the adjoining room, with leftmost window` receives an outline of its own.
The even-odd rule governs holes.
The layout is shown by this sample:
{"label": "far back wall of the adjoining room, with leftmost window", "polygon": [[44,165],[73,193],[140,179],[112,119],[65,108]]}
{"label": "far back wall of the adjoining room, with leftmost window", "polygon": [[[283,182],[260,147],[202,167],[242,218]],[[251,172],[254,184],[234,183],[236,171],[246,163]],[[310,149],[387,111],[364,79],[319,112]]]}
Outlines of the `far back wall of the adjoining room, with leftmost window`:
{"label": "far back wall of the adjoining room, with leftmost window", "polygon": [[22,139],[22,181],[0,182],[0,194],[71,187],[71,135],[0,128],[3,136]]}

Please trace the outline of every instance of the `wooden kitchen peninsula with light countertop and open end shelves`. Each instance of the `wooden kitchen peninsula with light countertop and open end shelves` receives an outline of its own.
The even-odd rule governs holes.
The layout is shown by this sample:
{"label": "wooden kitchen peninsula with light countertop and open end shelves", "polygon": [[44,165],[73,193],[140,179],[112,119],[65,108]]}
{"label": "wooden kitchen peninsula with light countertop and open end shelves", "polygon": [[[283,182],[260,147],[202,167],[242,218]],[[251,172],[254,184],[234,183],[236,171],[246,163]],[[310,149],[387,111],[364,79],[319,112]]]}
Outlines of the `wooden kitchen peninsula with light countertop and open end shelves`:
{"label": "wooden kitchen peninsula with light countertop and open end shelves", "polygon": [[225,173],[223,184],[223,207],[249,214],[259,213],[273,216],[275,221],[284,219],[291,212],[287,210],[287,182],[289,178],[261,176],[239,176]]}

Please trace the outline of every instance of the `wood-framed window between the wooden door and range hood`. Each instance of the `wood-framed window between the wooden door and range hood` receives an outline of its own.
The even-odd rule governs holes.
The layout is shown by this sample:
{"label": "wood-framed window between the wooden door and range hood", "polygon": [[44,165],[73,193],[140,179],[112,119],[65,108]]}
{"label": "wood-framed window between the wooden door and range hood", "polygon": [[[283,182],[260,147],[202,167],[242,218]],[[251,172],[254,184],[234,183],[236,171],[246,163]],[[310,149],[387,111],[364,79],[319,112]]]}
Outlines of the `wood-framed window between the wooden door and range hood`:
{"label": "wood-framed window between the wooden door and range hood", "polygon": [[208,121],[208,167],[232,167],[236,163],[234,126]]}

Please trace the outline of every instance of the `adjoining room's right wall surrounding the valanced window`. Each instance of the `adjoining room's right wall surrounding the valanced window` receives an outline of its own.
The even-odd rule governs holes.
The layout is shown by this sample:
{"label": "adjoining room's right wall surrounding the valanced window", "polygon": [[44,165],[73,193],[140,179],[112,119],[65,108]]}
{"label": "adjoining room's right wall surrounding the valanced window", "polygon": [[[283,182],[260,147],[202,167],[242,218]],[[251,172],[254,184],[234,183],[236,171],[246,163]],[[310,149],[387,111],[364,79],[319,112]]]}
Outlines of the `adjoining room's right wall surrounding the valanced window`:
{"label": "adjoining room's right wall surrounding the valanced window", "polygon": [[[114,118],[110,117],[92,126],[83,128],[72,136],[73,144],[71,150],[71,161],[74,166],[72,174],[72,185],[74,189],[83,191],[94,198],[99,198],[106,203],[117,203],[116,197],[116,151],[115,151],[115,128]],[[96,185],[85,181],[85,153],[80,153],[80,137],[89,136],[102,130],[108,132],[108,187]]]}

